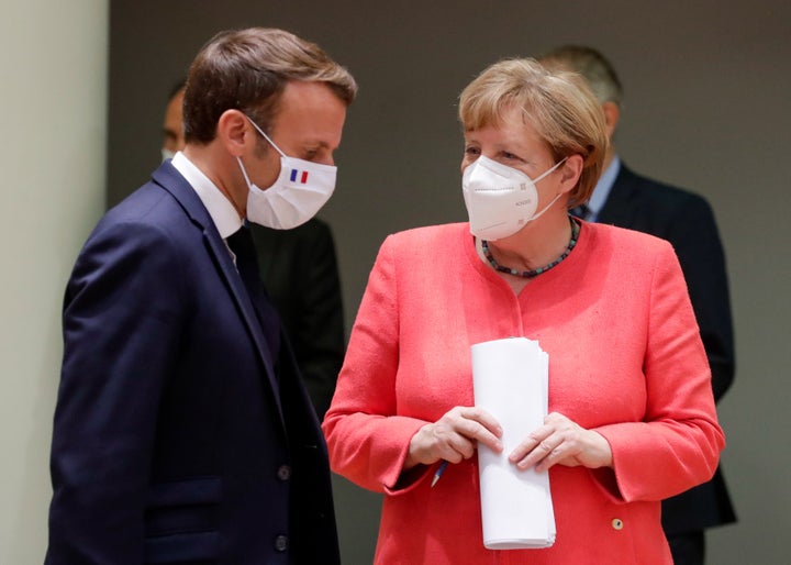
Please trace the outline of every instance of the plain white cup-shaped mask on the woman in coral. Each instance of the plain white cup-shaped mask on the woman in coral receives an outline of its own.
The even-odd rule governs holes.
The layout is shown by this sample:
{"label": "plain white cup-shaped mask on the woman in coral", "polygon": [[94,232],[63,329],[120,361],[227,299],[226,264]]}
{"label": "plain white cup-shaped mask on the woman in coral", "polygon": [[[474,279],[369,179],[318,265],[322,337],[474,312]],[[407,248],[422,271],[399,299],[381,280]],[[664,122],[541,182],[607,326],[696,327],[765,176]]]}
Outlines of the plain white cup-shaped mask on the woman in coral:
{"label": "plain white cup-shaped mask on the woman in coral", "polygon": [[541,212],[535,184],[559,167],[566,158],[534,179],[483,155],[467,166],[461,179],[470,233],[488,241],[513,235],[546,212],[561,193]]}

